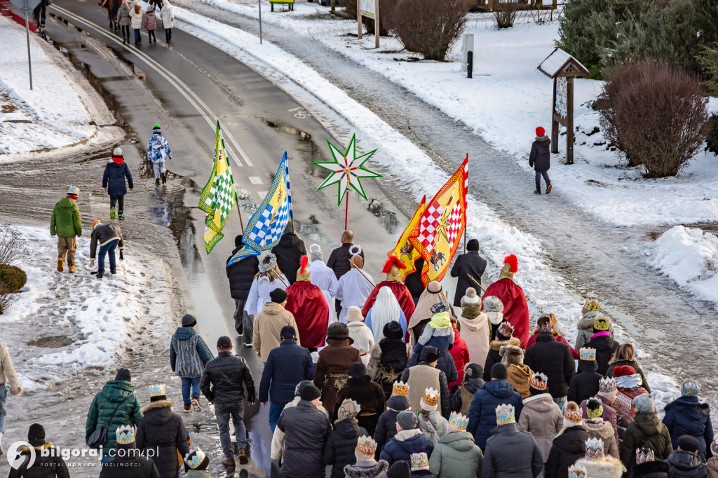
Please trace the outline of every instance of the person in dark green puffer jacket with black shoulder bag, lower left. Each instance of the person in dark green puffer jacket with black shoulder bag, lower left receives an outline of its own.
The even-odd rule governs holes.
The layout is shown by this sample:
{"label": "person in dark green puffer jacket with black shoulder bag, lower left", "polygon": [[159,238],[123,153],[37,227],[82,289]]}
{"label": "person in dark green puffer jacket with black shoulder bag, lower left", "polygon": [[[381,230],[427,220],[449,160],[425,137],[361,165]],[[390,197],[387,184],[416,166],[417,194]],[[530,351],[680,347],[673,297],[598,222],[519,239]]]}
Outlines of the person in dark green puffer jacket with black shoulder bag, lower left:
{"label": "person in dark green puffer jacket with black shoulder bag, lower left", "polygon": [[[90,404],[88,418],[85,422],[85,443],[97,428],[107,425],[108,422],[110,425],[107,428],[107,442],[102,449],[103,464],[112,461],[115,455],[117,447],[115,429],[123,425],[137,426],[142,419],[139,397],[134,393],[134,387],[130,380],[132,380],[130,371],[121,368],[118,370],[115,380],[108,381]],[[117,408],[115,416],[112,417],[112,413],[120,402],[122,402],[121,405]]]}

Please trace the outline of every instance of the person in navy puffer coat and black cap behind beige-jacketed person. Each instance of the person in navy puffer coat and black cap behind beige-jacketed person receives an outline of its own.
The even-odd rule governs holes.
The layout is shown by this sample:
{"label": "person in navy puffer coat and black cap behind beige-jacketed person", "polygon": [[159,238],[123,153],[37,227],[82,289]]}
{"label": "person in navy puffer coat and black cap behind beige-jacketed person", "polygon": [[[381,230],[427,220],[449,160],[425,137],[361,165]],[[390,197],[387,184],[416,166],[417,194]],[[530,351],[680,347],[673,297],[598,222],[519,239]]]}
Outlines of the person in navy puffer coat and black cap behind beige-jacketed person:
{"label": "person in navy puffer coat and black cap behind beige-jacketed person", "polygon": [[297,345],[297,331],[285,325],[279,333],[281,343],[269,351],[259,382],[259,403],[269,404],[269,427],[274,434],[284,406],[294,400],[294,389],[302,380],[314,380],[314,361],[309,350]]}

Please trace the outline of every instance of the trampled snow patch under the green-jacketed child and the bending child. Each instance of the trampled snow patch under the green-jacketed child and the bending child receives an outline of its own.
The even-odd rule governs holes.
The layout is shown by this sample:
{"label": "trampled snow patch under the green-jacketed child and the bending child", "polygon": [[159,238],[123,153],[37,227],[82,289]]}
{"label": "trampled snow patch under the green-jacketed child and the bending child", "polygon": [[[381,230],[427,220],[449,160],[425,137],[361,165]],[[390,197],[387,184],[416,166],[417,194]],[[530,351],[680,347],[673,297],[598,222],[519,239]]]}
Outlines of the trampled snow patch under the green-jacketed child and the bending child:
{"label": "trampled snow patch under the green-jacketed child and the bending child", "polygon": [[[45,388],[82,368],[115,370],[125,352],[147,350],[172,333],[169,266],[126,244],[116,275],[90,275],[90,231],[78,238],[75,266],[57,272],[57,239],[47,228],[17,226],[27,273],[19,299],[0,315],[23,388]],[[95,263],[96,267],[96,263]]]}

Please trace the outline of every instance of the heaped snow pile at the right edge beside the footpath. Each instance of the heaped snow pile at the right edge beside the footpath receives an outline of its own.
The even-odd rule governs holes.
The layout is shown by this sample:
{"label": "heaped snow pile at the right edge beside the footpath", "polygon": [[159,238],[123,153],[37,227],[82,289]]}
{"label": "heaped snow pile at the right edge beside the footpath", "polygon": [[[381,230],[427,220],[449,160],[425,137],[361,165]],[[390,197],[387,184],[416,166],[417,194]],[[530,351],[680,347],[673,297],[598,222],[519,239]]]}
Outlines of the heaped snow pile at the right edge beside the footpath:
{"label": "heaped snow pile at the right edge beside the footpath", "polygon": [[649,250],[651,265],[695,296],[718,304],[718,237],[674,226]]}

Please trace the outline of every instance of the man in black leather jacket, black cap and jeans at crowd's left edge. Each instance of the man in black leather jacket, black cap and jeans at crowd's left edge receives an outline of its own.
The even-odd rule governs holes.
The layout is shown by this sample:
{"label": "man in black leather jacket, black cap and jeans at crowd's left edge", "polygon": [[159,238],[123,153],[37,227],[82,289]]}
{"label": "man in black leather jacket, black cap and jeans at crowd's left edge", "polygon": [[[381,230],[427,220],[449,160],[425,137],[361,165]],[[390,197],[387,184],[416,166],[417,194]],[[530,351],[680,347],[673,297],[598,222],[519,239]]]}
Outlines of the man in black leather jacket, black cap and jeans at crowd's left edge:
{"label": "man in black leather jacket, black cap and jeans at crowd's left edge", "polygon": [[220,443],[225,454],[222,464],[228,469],[234,469],[234,448],[229,434],[229,419],[231,416],[234,424],[239,463],[247,464],[249,460],[245,453],[247,439],[243,421],[243,385],[247,388],[247,401],[250,405],[254,405],[254,379],[247,362],[242,357],[232,354],[232,340],[229,337],[220,337],[217,340],[217,352],[218,356],[205,364],[200,390],[202,395],[215,405]]}

